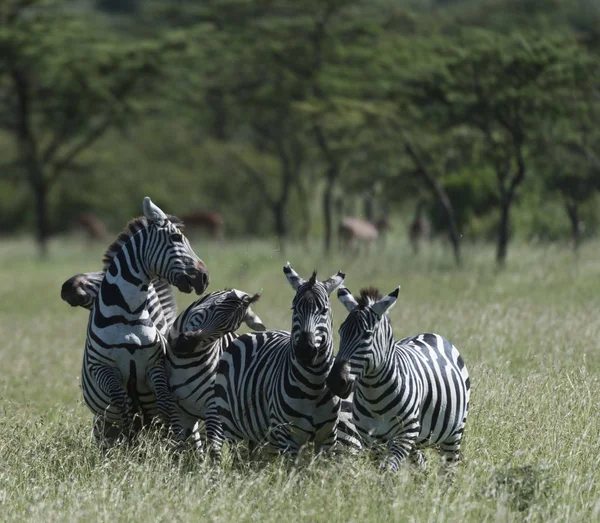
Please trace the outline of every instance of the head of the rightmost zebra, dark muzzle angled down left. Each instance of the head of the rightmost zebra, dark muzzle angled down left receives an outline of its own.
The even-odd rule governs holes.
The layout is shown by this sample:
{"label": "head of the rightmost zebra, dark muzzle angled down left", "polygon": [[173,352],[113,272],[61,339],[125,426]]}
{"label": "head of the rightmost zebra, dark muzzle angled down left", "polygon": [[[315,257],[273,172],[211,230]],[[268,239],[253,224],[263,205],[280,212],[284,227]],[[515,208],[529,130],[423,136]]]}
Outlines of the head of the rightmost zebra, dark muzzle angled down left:
{"label": "head of the rightmost zebra, dark muzzle angled down left", "polygon": [[394,345],[387,311],[396,303],[400,287],[381,297],[374,288],[362,289],[356,300],[346,287],[338,298],[350,314],[340,326],[340,349],[327,378],[331,391],[347,398],[354,380],[377,374]]}

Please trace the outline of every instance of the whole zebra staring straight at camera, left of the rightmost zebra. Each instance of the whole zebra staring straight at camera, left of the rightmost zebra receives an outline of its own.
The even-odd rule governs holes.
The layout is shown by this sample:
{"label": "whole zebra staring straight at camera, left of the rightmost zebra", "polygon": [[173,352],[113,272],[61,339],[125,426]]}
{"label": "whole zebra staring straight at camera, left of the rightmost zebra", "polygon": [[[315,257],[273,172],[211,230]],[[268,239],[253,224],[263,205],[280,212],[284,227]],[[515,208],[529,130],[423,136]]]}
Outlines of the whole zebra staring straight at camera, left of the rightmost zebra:
{"label": "whole zebra staring straight at camera, left of the rightmost zebra", "polygon": [[296,291],[291,333],[242,334],[219,361],[206,419],[216,462],[225,438],[266,442],[292,457],[311,441],[323,451],[336,443],[340,400],[325,383],[334,359],[329,295],[345,275],[319,282],[315,271],[306,281],[289,262],[283,272]]}

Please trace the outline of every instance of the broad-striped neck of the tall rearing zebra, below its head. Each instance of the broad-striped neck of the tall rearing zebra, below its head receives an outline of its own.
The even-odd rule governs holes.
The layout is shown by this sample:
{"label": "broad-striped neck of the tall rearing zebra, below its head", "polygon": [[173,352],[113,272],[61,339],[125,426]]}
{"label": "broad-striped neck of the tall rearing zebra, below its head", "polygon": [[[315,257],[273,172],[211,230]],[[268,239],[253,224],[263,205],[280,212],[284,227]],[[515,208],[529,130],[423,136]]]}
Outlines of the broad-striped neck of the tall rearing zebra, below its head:
{"label": "broad-striped neck of the tall rearing zebra, below its head", "polygon": [[147,315],[149,283],[150,276],[142,265],[121,251],[106,271],[98,293],[100,302],[104,306],[121,309],[128,316]]}

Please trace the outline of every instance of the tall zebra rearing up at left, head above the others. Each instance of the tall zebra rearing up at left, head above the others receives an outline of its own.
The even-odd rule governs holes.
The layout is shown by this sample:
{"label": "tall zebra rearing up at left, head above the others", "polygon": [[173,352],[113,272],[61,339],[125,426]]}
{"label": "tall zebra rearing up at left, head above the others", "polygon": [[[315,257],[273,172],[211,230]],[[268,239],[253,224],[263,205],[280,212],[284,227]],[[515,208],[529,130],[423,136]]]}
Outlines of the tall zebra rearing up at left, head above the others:
{"label": "tall zebra rearing up at left, head above the others", "polygon": [[128,435],[137,412],[145,423],[159,417],[170,424],[166,339],[150,320],[150,281],[164,279],[182,292],[198,294],[209,283],[206,265],[183,235],[181,222],[148,197],[143,210],[144,216],[130,222],[106,251],[88,321],[81,389],[101,447]]}

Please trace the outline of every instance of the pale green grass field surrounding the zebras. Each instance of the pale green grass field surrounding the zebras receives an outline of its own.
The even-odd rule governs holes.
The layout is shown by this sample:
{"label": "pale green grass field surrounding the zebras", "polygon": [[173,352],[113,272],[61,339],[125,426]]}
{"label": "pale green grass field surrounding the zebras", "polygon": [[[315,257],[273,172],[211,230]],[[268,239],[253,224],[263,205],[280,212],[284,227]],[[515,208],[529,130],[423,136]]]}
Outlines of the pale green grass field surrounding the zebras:
{"label": "pale green grass field surrounding the zebras", "polygon": [[[282,267],[321,277],[342,269],[358,292],[390,292],[397,337],[434,331],[461,351],[471,375],[463,464],[449,485],[428,453],[423,474],[380,475],[367,456],[308,461],[228,460],[211,483],[201,460],[176,463],[151,439],[101,458],[79,373],[87,313],[60,300],[69,276],[100,267],[102,247],[73,240],[36,260],[25,240],[0,244],[1,521],[599,521],[600,243],[515,245],[498,271],[473,247],[455,269],[440,247],[324,259],[301,246],[193,242],[211,290],[262,289],[255,310],[288,329],[293,292]],[[193,298],[178,295],[181,306]],[[334,325],[345,316],[334,298]]]}

